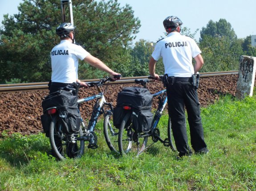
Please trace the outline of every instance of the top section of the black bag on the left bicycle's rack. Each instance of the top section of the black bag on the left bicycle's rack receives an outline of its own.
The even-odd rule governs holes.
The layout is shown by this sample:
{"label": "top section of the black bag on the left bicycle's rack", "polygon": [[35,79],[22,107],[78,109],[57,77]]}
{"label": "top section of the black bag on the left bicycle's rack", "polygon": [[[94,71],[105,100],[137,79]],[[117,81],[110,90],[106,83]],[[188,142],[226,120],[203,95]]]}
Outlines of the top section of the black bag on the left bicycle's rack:
{"label": "top section of the black bag on the left bicycle's rack", "polygon": [[46,96],[42,101],[44,113],[46,109],[58,106],[77,107],[77,96],[74,96],[71,91],[58,90]]}

